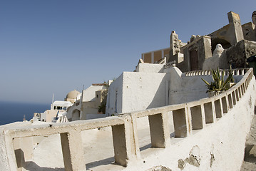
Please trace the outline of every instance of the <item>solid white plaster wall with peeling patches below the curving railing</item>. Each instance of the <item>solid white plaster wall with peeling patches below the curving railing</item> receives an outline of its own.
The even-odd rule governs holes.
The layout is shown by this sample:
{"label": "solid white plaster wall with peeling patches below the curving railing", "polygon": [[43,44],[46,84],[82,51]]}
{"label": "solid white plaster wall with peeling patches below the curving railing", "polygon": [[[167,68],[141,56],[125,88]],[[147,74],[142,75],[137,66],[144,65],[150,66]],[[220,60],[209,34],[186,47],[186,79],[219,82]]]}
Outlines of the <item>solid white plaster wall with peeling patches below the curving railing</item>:
{"label": "solid white plaster wall with peeling patches below the curving railing", "polygon": [[[150,170],[165,166],[170,170],[240,170],[245,140],[255,108],[255,78],[247,92],[228,113],[203,130],[193,130],[187,138],[175,141],[165,150],[148,149],[142,161],[124,170]],[[156,160],[156,158],[158,160]]]}

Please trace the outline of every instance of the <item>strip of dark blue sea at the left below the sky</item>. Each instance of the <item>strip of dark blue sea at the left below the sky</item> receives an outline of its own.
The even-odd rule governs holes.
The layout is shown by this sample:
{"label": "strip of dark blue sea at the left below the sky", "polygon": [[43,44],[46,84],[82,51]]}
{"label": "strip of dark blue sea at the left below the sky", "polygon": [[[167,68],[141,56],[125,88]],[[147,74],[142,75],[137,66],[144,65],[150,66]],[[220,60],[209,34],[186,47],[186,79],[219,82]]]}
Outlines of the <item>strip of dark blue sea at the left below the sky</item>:
{"label": "strip of dark blue sea at the left below the sky", "polygon": [[43,113],[50,109],[50,104],[41,103],[20,103],[0,101],[0,125],[14,123],[17,121],[31,120],[34,113]]}

